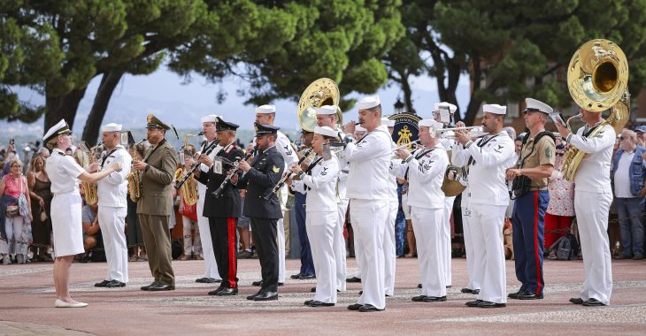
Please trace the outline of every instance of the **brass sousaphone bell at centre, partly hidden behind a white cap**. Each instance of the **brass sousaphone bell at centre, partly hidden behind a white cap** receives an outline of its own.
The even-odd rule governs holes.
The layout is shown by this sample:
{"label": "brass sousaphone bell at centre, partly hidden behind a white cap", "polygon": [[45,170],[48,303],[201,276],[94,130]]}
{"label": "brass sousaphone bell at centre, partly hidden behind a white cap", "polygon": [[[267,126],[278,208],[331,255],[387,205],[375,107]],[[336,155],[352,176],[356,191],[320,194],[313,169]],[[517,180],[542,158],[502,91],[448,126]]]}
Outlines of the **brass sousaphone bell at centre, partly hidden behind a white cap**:
{"label": "brass sousaphone bell at centre, partly hidden behind a white cap", "polygon": [[336,106],[336,127],[342,126],[343,114],[339,108],[339,87],[336,86],[334,80],[329,78],[319,78],[314,80],[305,88],[303,95],[298,100],[298,124],[306,132],[314,132],[316,126],[316,110],[315,108],[325,105]]}

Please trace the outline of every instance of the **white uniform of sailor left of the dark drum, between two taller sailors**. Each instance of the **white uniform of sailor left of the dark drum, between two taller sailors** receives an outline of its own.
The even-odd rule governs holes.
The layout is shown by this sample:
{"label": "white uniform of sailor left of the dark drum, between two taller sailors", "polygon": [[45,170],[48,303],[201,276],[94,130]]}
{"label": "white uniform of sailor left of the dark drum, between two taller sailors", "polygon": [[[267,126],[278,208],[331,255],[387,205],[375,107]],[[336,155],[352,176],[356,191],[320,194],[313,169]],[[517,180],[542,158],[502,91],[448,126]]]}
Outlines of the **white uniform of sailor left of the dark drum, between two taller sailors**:
{"label": "white uniform of sailor left of the dark drum, between two taller sailors", "polygon": [[398,178],[408,175],[408,204],[424,296],[446,296],[441,233],[445,199],[442,180],[448,164],[449,157],[439,142],[432,149],[417,149],[404,162],[393,160],[392,164]]}

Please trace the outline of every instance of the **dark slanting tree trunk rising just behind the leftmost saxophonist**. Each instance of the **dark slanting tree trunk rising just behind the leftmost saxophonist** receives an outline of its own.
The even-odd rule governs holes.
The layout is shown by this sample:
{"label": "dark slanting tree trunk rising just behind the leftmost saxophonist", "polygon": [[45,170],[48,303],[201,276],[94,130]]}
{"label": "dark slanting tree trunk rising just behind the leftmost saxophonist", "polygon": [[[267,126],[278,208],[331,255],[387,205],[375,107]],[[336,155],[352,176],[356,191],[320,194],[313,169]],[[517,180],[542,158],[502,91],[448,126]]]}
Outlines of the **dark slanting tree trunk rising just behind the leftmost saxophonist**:
{"label": "dark slanting tree trunk rising just behind the leftmost saxophonist", "polygon": [[108,104],[114,89],[117,88],[119,80],[123,77],[124,72],[121,70],[111,70],[104,73],[101,78],[101,84],[96,90],[92,110],[89,111],[88,120],[85,122],[83,129],[83,136],[81,139],[88,142],[88,145],[96,145],[96,140],[99,136],[101,123],[104,120],[105,112],[108,110]]}

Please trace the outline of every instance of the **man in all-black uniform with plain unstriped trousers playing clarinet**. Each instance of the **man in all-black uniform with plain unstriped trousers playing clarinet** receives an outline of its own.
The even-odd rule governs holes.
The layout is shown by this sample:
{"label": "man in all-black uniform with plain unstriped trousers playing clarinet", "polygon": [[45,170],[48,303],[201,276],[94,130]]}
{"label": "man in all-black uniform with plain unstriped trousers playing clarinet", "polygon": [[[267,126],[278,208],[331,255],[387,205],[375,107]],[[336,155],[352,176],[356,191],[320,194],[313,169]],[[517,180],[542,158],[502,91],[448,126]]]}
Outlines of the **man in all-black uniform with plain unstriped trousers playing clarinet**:
{"label": "man in all-black uniform with plain unstriped trousers playing clarinet", "polygon": [[247,300],[278,300],[279,247],[276,231],[282,210],[277,195],[273,195],[269,201],[265,201],[265,195],[270,194],[281,179],[285,162],[276,149],[279,128],[258,123],[255,126],[258,153],[251,164],[241,161],[239,168],[245,174],[239,183],[241,188],[246,187],[244,216],[251,220],[251,233],[258,250],[263,279],[258,293],[247,296]]}

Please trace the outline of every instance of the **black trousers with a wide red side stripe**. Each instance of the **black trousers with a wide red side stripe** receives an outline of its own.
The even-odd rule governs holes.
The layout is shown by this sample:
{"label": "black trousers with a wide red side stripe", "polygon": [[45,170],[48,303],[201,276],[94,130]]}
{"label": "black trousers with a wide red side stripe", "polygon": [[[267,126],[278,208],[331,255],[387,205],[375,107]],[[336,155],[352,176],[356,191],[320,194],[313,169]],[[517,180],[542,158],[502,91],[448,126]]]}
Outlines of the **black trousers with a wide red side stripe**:
{"label": "black trousers with a wide red side stripe", "polygon": [[211,243],[215,262],[218,263],[219,277],[222,286],[236,288],[238,286],[238,254],[236,251],[236,225],[238,218],[209,218]]}

